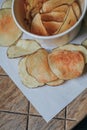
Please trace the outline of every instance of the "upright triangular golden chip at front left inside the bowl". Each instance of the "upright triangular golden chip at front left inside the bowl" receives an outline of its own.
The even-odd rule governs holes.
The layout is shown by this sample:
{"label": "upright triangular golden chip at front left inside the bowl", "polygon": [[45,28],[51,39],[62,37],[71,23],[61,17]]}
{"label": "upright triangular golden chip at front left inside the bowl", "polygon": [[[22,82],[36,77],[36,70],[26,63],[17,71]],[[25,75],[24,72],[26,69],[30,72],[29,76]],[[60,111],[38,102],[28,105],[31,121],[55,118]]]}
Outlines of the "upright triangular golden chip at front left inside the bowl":
{"label": "upright triangular golden chip at front left inside the bowl", "polygon": [[48,35],[45,27],[42,24],[41,16],[40,16],[39,13],[36,14],[35,17],[32,20],[31,32],[34,33],[34,34],[37,34],[37,35],[44,35],[44,36]]}

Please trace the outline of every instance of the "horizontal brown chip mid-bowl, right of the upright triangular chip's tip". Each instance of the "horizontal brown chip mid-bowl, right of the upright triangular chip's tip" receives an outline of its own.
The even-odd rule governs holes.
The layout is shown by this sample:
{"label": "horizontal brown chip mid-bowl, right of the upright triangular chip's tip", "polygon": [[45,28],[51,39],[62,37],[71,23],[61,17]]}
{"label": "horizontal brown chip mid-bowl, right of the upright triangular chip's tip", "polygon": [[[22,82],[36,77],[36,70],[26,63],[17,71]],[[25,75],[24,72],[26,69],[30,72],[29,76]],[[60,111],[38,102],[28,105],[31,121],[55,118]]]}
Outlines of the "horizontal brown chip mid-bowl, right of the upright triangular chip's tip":
{"label": "horizontal brown chip mid-bowl, right of the upright triangular chip's tip", "polygon": [[56,21],[63,22],[65,18],[65,12],[50,12],[41,14],[42,21]]}

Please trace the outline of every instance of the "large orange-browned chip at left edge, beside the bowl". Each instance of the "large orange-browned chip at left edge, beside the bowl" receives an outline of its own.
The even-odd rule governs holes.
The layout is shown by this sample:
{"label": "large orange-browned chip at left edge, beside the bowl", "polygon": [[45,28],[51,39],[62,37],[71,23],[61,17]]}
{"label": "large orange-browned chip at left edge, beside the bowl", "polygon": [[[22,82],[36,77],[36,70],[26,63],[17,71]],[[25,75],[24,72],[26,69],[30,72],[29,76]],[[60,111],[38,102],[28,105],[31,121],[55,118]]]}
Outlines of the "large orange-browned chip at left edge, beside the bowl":
{"label": "large orange-browned chip at left edge, beside the bowl", "polygon": [[16,26],[11,9],[0,10],[0,46],[10,46],[21,36],[22,32]]}

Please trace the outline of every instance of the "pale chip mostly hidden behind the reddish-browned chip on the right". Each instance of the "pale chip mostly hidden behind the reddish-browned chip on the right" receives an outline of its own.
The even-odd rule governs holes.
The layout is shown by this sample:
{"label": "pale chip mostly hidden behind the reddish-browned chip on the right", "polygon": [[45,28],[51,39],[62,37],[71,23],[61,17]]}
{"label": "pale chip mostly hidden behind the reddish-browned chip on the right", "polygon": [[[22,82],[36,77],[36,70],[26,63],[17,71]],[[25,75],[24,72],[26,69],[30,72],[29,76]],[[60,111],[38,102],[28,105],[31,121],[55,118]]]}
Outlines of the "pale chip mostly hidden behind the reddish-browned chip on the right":
{"label": "pale chip mostly hidden behind the reddish-browned chip on the right", "polygon": [[87,49],[81,45],[76,45],[76,44],[67,44],[61,47],[58,47],[55,50],[68,50],[68,51],[80,51],[85,58],[85,63],[87,63]]}

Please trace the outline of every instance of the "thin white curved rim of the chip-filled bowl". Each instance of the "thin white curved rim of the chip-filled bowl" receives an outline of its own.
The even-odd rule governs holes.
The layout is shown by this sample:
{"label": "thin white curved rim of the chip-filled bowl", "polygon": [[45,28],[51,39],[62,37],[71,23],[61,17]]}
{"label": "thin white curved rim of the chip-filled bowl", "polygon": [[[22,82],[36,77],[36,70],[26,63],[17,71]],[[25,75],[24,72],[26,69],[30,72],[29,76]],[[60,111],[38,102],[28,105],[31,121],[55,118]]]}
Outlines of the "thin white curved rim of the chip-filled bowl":
{"label": "thin white curved rim of the chip-filled bowl", "polygon": [[51,36],[40,36],[40,35],[36,35],[36,34],[33,34],[31,32],[28,32],[27,30],[25,30],[20,24],[19,22],[17,21],[16,19],[16,16],[15,16],[15,13],[14,13],[14,2],[15,0],[12,1],[12,16],[13,16],[13,19],[16,23],[16,25],[19,27],[19,29],[24,32],[25,34],[31,36],[32,38],[36,38],[36,39],[43,39],[43,40],[47,40],[47,39],[54,39],[54,38],[58,38],[58,37],[62,37],[66,34],[68,34],[69,32],[71,32],[72,30],[74,30],[78,25],[79,23],[83,20],[83,17],[86,13],[86,10],[87,10],[87,0],[84,0],[84,9],[83,9],[83,12],[81,14],[81,17],[79,18],[79,20],[68,30],[60,33],[60,34],[55,34],[55,35],[51,35]]}

